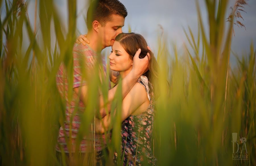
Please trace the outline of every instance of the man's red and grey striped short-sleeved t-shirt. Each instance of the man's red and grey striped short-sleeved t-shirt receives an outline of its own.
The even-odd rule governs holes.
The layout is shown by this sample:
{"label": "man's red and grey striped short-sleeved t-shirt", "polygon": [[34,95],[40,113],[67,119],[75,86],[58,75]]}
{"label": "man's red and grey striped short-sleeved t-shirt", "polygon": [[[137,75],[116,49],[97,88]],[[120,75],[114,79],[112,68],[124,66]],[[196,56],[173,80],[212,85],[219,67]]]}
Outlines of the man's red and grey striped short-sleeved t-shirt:
{"label": "man's red and grey striped short-sleeved t-shirt", "polygon": [[[80,87],[83,85],[87,85],[85,80],[82,80],[82,71],[86,67],[86,71],[90,72],[91,63],[89,58],[91,56],[96,56],[96,52],[92,50],[88,45],[82,45],[82,44],[75,44],[73,47],[73,88]],[[81,64],[84,63],[84,64]],[[102,57],[103,62],[103,69],[104,72],[106,72],[106,61],[104,57]],[[61,97],[66,102],[66,118],[64,120],[64,126],[61,126],[59,129],[59,137],[58,142],[56,145],[56,151],[61,152],[63,149],[65,153],[74,153],[76,150],[76,139],[77,139],[77,133],[80,128],[81,118],[80,116],[84,113],[85,107],[81,100],[79,100],[79,97],[77,94],[73,91],[72,99],[68,101],[68,78],[67,78],[67,69],[65,65],[62,63],[59,67],[59,70],[57,72],[56,76],[56,83],[57,88],[59,90],[59,93],[61,94]],[[110,89],[110,82],[109,82],[109,89]],[[76,110],[77,109],[77,110]],[[75,115],[73,115],[73,112],[76,110]],[[70,122],[71,118],[73,117],[72,122]],[[92,120],[93,124],[93,120]],[[88,128],[88,135],[84,136],[80,146],[79,146],[79,152],[90,152],[92,151],[92,147],[94,148],[94,141],[95,141],[95,150],[100,151],[103,148],[106,147],[106,139],[110,139],[110,134],[108,135],[102,135],[92,133],[91,131],[91,125],[87,126]],[[65,138],[65,135],[67,138]],[[70,137],[71,135],[71,137]],[[71,146],[70,146],[71,145]]]}

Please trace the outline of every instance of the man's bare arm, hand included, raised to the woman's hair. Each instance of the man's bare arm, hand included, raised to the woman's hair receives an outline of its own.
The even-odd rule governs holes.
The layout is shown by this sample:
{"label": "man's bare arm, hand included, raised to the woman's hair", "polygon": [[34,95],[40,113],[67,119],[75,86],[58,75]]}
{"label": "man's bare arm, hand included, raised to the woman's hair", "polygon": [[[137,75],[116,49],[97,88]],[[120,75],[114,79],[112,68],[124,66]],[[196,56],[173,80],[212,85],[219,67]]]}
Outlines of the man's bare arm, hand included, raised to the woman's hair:
{"label": "man's bare arm, hand included, raised to the woman's hair", "polygon": [[[148,70],[149,59],[147,56],[145,56],[143,59],[140,59],[139,58],[140,53],[141,53],[141,49],[139,49],[135,53],[135,56],[133,57],[133,68],[131,72],[122,80],[122,100],[131,90],[133,85],[135,85],[139,77],[142,76],[142,74],[144,74]],[[148,54],[148,56],[150,55]],[[109,105],[115,96],[115,92],[117,88],[118,88],[118,85],[108,91]],[[87,89],[88,89],[87,85],[74,88],[75,93],[79,96],[80,100],[84,103],[84,105],[86,105],[88,101]],[[108,110],[104,109],[104,99],[102,95],[99,96],[99,101],[100,101],[100,115],[104,117],[108,112],[110,112],[110,107],[108,106]]]}

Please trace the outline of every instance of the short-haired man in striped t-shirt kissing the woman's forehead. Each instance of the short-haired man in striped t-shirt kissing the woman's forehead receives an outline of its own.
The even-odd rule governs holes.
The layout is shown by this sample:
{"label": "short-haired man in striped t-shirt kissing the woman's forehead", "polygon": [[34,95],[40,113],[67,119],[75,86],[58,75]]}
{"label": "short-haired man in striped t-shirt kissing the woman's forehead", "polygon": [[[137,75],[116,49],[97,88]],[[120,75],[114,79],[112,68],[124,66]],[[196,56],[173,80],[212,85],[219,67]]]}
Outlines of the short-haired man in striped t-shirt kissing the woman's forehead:
{"label": "short-haired man in striped t-shirt kissing the woman's forehead", "polygon": [[[92,17],[90,17],[92,15]],[[56,76],[57,87],[61,96],[66,100],[66,121],[64,122],[64,126],[61,126],[59,130],[58,143],[56,145],[56,151],[59,153],[62,150],[65,152],[67,159],[71,160],[71,154],[75,153],[75,151],[79,150],[82,153],[82,157],[85,153],[92,152],[92,143],[94,142],[95,150],[97,151],[96,160],[97,164],[100,164],[102,158],[102,150],[106,148],[106,141],[100,142],[99,136],[95,134],[93,139],[89,139],[92,137],[84,137],[82,139],[79,149],[76,149],[76,139],[77,133],[80,129],[81,119],[80,115],[85,110],[85,107],[88,102],[88,84],[86,81],[82,80],[82,65],[80,62],[82,59],[85,59],[85,62],[88,62],[90,66],[90,57],[97,56],[96,52],[101,51],[102,49],[112,46],[115,37],[122,33],[122,27],[124,26],[125,17],[127,16],[127,10],[122,3],[118,0],[100,0],[93,1],[90,4],[87,12],[87,27],[88,34],[87,38],[90,40],[90,43],[87,45],[75,44],[73,48],[73,98],[68,100],[67,93],[67,77],[66,77],[66,69],[62,64],[59,68],[59,71]],[[122,80],[122,97],[124,98],[127,93],[131,90],[133,85],[137,82],[139,77],[147,70],[148,66],[148,58],[147,56],[144,59],[139,59],[140,50],[137,51],[135,57],[133,59],[133,69],[132,71]],[[104,63],[104,62],[103,62]],[[84,64],[87,65],[88,64]],[[103,69],[106,72],[106,64],[103,64]],[[90,68],[88,69],[90,70]],[[88,71],[90,72],[90,71]],[[117,90],[117,86],[108,91],[108,103],[111,103],[115,92]],[[79,100],[79,109],[72,115],[76,105],[76,101]],[[104,117],[106,115],[106,111],[104,110],[104,102],[102,95],[99,96],[99,104],[100,104],[100,116]],[[80,114],[80,115],[79,115]],[[72,117],[74,116],[74,117]],[[72,122],[71,122],[71,119]],[[89,129],[88,129],[89,130]],[[70,138],[70,134],[72,137]],[[65,138],[65,135],[68,139]],[[103,140],[106,139],[105,135],[102,135]],[[68,141],[68,142],[66,142]],[[71,153],[71,154],[70,154]],[[61,154],[59,153],[59,156]],[[61,159],[62,160],[62,159]],[[72,164],[72,161],[69,163]],[[90,163],[87,163],[90,165]],[[104,165],[104,163],[101,163]]]}

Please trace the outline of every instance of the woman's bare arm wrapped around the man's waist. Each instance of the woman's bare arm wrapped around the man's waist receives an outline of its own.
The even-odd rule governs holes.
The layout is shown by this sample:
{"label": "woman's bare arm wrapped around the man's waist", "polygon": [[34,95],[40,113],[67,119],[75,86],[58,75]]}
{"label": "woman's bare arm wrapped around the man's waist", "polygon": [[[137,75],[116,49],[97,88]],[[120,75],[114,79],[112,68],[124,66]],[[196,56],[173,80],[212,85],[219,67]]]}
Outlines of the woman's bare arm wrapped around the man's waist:
{"label": "woman's bare arm wrapped around the man's waist", "polygon": [[[130,92],[125,96],[122,103],[121,122],[129,117],[137,108],[139,108],[145,102],[149,103],[147,92],[145,87],[140,83],[135,83]],[[114,111],[115,114],[115,111]],[[110,130],[111,115],[108,114],[104,118],[95,120],[95,131],[98,133],[104,133]]]}

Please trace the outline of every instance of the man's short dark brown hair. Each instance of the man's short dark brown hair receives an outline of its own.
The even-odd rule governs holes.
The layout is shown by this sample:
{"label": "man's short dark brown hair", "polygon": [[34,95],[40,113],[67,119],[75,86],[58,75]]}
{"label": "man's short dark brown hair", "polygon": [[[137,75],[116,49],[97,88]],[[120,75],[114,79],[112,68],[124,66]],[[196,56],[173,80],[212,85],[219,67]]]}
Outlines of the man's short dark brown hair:
{"label": "man's short dark brown hair", "polygon": [[92,22],[97,20],[104,27],[107,21],[111,20],[111,15],[119,15],[125,18],[127,10],[118,0],[94,0],[87,11],[86,24],[88,30],[92,29]]}

